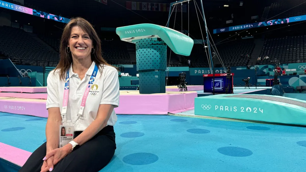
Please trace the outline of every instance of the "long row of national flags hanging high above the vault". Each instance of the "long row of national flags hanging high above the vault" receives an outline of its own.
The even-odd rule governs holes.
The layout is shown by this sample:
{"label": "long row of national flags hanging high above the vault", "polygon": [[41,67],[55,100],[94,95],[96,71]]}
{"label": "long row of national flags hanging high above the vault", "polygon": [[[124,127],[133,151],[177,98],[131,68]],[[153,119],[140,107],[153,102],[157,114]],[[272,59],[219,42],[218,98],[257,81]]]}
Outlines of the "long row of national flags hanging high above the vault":
{"label": "long row of national flags hanging high above the vault", "polygon": [[[170,4],[163,3],[149,3],[149,2],[130,2],[126,1],[126,9],[131,10],[142,10],[142,11],[166,11],[169,12]],[[187,5],[177,4],[176,6],[172,6],[172,10],[176,12],[184,12],[187,11]]]}

